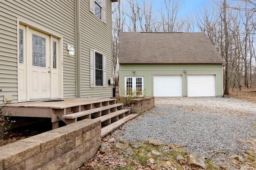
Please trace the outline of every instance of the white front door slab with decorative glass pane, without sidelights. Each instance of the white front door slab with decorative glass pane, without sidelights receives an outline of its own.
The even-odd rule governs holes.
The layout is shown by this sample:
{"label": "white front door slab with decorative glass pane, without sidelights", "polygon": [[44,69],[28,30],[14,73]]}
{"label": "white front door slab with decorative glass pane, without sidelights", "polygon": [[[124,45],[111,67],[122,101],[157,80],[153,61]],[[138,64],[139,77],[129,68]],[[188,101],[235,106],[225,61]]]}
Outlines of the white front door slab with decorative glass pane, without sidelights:
{"label": "white front door slab with decorative glass pane, without sidelights", "polygon": [[28,47],[29,98],[50,98],[50,36],[32,30]]}

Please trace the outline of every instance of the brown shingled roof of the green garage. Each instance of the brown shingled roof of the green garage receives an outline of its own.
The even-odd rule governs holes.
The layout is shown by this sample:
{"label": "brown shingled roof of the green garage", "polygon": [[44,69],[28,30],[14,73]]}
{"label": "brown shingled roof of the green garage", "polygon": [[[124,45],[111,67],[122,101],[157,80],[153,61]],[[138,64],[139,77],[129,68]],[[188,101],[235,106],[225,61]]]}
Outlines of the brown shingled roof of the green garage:
{"label": "brown shingled roof of the green garage", "polygon": [[120,64],[221,64],[205,33],[119,33]]}

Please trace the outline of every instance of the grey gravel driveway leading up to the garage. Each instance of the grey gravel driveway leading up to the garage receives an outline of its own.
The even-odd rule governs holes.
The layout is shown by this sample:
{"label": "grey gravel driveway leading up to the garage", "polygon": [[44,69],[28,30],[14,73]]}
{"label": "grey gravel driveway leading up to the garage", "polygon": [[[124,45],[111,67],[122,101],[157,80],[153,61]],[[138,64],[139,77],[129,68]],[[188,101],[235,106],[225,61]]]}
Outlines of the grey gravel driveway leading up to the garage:
{"label": "grey gravel driveway leading up to the garage", "polygon": [[232,98],[155,98],[156,107],[124,125],[130,141],[148,137],[184,146],[216,162],[256,149],[256,104]]}

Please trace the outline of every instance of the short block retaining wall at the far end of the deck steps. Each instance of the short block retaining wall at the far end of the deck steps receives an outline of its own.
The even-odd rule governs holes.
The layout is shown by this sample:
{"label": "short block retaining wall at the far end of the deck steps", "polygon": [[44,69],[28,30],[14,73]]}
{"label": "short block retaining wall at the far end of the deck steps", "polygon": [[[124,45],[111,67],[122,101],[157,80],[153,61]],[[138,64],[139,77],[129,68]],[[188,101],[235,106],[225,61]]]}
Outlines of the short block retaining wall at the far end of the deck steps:
{"label": "short block retaining wall at the far end of the deck steps", "polygon": [[130,100],[130,113],[141,114],[155,106],[154,97],[137,98]]}

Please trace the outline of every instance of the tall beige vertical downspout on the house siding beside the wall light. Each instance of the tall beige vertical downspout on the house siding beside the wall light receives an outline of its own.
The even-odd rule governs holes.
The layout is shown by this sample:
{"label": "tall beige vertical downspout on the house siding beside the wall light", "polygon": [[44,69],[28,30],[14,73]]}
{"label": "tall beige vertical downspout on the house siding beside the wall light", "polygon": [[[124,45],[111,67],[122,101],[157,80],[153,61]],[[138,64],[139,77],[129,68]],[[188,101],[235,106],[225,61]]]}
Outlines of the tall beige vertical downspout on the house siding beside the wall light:
{"label": "tall beige vertical downspout on the house siding beside the wall light", "polygon": [[76,27],[76,98],[81,98],[80,0],[75,0],[75,27]]}

